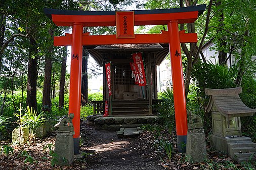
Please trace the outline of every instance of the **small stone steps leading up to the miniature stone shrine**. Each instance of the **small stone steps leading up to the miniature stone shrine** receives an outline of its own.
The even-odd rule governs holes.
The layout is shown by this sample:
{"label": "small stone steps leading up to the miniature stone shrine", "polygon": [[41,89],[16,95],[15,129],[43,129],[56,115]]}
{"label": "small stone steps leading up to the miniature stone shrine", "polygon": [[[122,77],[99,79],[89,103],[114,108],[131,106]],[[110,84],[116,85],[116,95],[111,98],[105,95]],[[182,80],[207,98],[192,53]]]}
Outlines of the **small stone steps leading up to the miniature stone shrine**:
{"label": "small stone steps leading up to the miniature stone shrine", "polygon": [[256,143],[234,142],[228,143],[228,154],[238,162],[256,160]]}

